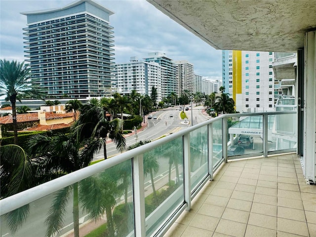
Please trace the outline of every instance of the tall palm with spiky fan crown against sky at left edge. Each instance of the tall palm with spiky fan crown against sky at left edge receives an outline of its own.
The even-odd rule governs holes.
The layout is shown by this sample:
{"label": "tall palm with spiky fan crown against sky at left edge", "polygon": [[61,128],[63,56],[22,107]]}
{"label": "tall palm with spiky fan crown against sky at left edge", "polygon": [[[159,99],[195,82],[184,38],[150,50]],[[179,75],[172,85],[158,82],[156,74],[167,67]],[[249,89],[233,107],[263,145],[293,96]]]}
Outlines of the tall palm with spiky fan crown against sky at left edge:
{"label": "tall palm with spiky fan crown against sky at left edge", "polygon": [[30,68],[24,62],[0,60],[0,96],[6,95],[6,100],[11,102],[14,144],[18,144],[16,100],[44,95],[30,79]]}

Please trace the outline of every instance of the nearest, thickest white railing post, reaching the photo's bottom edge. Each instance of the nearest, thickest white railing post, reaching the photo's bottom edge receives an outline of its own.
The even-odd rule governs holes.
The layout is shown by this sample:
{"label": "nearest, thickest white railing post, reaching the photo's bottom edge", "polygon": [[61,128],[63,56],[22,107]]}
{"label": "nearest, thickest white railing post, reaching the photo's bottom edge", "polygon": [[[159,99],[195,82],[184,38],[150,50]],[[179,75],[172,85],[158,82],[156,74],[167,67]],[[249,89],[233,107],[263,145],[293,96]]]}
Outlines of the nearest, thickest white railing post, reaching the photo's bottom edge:
{"label": "nearest, thickest white railing post, reaching the photo's bottom edge", "polygon": [[143,154],[133,158],[135,236],[146,236]]}

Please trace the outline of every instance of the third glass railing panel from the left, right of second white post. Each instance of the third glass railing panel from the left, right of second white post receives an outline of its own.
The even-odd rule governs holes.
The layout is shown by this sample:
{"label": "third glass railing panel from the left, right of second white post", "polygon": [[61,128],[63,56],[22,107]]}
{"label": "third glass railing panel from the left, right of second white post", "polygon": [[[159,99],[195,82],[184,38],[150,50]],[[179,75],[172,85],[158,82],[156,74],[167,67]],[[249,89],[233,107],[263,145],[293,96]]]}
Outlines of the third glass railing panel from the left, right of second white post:
{"label": "third glass railing panel from the left, right of second white post", "polygon": [[190,132],[191,188],[192,190],[207,175],[207,126]]}

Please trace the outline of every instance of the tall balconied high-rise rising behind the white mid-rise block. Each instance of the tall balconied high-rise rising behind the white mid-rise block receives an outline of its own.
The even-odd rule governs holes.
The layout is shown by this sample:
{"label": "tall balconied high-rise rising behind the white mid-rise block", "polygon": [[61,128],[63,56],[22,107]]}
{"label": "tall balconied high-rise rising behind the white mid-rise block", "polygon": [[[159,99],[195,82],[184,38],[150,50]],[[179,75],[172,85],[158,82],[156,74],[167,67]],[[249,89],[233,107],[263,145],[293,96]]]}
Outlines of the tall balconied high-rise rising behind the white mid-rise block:
{"label": "tall balconied high-rise rising behind the white mid-rise block", "polygon": [[175,92],[175,76],[172,59],[168,58],[165,53],[152,52],[144,58],[145,62],[155,62],[161,66],[161,96],[162,98]]}

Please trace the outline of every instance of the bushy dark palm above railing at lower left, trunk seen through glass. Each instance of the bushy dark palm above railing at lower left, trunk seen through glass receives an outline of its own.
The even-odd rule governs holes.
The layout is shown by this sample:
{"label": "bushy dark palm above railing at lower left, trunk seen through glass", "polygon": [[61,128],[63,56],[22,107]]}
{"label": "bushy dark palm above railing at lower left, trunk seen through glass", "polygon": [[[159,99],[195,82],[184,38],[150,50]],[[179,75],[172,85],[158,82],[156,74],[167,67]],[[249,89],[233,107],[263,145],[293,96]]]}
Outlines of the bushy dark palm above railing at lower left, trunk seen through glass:
{"label": "bushy dark palm above railing at lower left, trunk seen through glass", "polygon": [[[75,130],[76,131],[76,130]],[[37,166],[36,176],[47,182],[89,165],[93,154],[99,149],[95,140],[80,142],[76,133],[58,134],[53,137],[37,134],[28,141],[30,154]],[[74,183],[59,190],[49,208],[45,220],[46,236],[55,236],[63,227],[63,215],[73,192],[74,235],[79,237],[79,187]]]}

